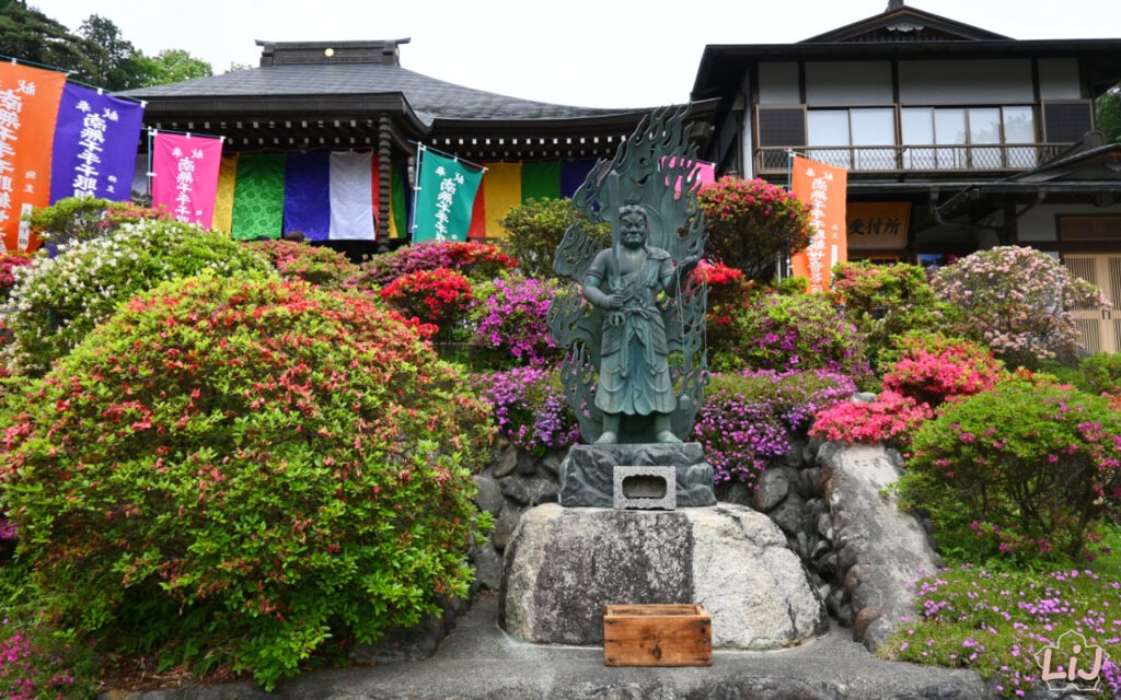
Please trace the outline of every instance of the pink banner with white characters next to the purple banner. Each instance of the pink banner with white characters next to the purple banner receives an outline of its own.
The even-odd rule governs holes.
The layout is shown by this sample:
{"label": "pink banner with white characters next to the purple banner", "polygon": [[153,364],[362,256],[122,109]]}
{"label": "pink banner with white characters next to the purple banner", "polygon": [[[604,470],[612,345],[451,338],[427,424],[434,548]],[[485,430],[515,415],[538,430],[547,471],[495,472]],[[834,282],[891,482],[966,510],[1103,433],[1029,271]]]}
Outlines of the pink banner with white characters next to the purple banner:
{"label": "pink banner with white characters next to the purple banner", "polygon": [[210,228],[214,222],[222,139],[157,132],[152,138],[152,206],[182,222]]}

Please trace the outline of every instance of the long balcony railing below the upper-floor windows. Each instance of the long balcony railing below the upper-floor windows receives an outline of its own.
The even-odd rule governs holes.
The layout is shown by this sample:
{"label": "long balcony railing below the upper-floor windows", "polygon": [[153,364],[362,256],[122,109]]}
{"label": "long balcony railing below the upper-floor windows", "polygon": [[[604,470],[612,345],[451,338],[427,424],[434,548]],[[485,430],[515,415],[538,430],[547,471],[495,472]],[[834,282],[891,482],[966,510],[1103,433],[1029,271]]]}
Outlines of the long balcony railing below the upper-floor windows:
{"label": "long balcony railing below the upper-floor windows", "polygon": [[1069,143],[985,143],[982,146],[798,146],[756,150],[756,172],[779,175],[789,151],[860,172],[952,172],[1030,170]]}

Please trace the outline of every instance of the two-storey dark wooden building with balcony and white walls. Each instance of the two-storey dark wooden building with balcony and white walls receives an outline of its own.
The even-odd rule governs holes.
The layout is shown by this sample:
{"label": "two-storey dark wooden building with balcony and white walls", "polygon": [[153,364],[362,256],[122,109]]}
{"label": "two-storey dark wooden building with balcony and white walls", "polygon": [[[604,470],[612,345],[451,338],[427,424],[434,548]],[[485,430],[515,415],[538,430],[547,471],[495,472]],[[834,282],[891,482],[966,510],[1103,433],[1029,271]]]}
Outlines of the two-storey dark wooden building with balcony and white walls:
{"label": "two-storey dark wooden building with balcony and white walls", "polygon": [[[719,174],[849,170],[851,260],[1030,245],[1119,304],[1121,146],[1094,123],[1119,82],[1121,39],[1016,40],[891,0],[797,44],[710,45],[692,99],[720,101]],[[1121,314],[1083,316],[1090,349],[1121,349]]]}

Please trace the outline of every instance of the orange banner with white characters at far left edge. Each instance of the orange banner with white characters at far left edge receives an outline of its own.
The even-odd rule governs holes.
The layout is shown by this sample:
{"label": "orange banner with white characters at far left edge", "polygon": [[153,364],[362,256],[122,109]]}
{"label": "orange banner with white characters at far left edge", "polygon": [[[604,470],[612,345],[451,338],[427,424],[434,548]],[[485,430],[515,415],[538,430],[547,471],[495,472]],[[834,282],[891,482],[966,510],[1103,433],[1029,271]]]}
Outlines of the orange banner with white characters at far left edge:
{"label": "orange banner with white characters at far left edge", "polygon": [[50,148],[66,74],[0,63],[0,233],[6,250],[39,246],[24,214],[50,203]]}

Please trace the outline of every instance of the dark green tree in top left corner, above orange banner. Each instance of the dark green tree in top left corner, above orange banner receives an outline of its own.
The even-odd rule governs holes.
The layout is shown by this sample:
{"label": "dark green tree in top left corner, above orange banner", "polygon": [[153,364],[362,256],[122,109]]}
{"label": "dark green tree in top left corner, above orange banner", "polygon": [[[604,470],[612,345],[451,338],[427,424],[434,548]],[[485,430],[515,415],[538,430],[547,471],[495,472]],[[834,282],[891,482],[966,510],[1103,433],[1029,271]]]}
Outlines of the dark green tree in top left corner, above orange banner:
{"label": "dark green tree in top left corner, above orange banner", "polygon": [[91,75],[87,56],[96,49],[25,0],[0,0],[0,47],[22,60],[73,71],[78,80]]}

